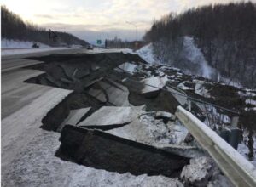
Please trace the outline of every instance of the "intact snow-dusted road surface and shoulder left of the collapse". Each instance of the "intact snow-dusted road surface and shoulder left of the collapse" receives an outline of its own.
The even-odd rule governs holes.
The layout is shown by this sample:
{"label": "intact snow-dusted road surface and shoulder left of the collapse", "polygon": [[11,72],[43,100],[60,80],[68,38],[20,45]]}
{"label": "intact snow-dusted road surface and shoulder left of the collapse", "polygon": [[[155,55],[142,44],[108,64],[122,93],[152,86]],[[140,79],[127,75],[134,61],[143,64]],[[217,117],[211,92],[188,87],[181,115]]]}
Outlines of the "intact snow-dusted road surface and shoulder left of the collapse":
{"label": "intact snow-dusted road surface and shoulder left of the collapse", "polygon": [[[22,54],[22,57],[26,55]],[[110,173],[55,157],[55,151],[60,146],[60,135],[40,128],[43,125],[42,119],[73,91],[24,82],[44,73],[23,69],[34,63],[42,62],[20,59],[18,56],[2,61],[2,65],[8,64],[5,67],[3,65],[2,69],[3,186],[148,186],[155,183],[183,186],[177,179],[148,177],[146,174],[134,176],[131,173]]]}

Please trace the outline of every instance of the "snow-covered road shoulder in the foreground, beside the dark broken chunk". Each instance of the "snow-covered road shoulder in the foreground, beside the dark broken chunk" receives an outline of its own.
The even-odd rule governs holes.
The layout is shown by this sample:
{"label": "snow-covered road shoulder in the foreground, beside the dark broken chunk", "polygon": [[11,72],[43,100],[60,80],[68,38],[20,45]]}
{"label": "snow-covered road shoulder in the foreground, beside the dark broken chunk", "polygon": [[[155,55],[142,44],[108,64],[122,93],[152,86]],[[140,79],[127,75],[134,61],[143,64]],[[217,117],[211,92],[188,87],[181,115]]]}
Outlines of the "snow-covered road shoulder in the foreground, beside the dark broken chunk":
{"label": "snow-covered road shoulder in the foreground, beside the dark broken chunk", "polygon": [[38,132],[9,167],[3,167],[3,186],[183,186],[177,178],[108,172],[63,161],[55,156],[61,144],[60,134],[40,129]]}

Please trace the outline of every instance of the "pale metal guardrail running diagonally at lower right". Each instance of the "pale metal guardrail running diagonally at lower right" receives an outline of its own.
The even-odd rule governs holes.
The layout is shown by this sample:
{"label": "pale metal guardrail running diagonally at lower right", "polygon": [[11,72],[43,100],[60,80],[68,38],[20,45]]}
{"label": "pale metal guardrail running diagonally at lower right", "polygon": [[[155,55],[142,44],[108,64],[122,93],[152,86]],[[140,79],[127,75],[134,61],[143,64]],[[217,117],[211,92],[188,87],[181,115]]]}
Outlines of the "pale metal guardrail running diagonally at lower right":
{"label": "pale metal guardrail running diagonally at lower right", "polygon": [[176,116],[235,186],[256,186],[256,168],[253,164],[182,106],[177,107]]}

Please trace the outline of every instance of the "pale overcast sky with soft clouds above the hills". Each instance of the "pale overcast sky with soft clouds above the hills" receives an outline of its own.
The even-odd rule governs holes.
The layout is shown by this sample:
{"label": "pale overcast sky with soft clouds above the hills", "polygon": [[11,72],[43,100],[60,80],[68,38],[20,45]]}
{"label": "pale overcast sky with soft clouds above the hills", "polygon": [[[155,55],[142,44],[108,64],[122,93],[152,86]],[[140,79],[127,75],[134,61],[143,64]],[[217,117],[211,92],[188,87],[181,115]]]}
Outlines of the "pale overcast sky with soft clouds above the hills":
{"label": "pale overcast sky with soft clouds above the hills", "polygon": [[[89,42],[113,38],[133,40],[143,37],[153,20],[162,15],[180,13],[209,3],[240,0],[2,0],[9,10],[23,20],[55,31],[71,32]],[[253,0],[256,2],[256,0]]]}

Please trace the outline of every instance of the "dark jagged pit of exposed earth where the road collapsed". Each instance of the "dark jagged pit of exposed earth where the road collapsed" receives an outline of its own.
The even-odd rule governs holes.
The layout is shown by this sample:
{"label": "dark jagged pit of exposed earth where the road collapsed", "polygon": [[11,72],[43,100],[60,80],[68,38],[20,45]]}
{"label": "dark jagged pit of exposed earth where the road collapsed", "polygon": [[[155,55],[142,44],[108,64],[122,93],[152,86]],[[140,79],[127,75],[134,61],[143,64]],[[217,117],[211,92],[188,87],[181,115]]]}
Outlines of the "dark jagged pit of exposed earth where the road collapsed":
{"label": "dark jagged pit of exposed earth where the road collapsed", "polygon": [[[136,54],[57,54],[30,59],[44,63],[26,68],[44,73],[26,82],[73,90],[42,120],[44,130],[61,133],[61,147],[55,156],[109,172],[129,172],[134,175],[147,173],[170,178],[179,176],[183,167],[189,163],[189,158],[178,156],[172,151],[104,132],[109,128],[76,126],[106,105],[146,104],[151,110],[172,110],[173,106],[166,105],[166,100],[163,99],[167,97],[166,93],[144,99],[142,95],[133,92],[129,85],[126,85],[127,89],[121,82],[131,75],[114,71],[116,67],[125,62],[145,64]],[[89,111],[81,115],[80,111],[87,108],[90,108]],[[79,120],[76,119],[73,125],[63,124],[72,113],[79,114]],[[127,124],[115,124],[111,127]]]}

